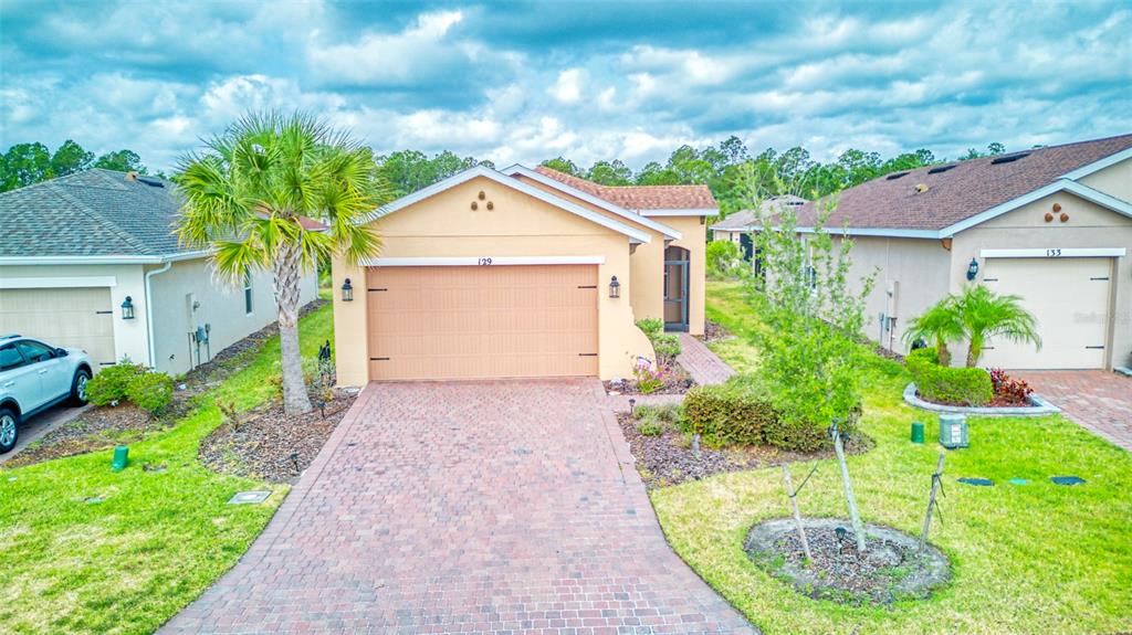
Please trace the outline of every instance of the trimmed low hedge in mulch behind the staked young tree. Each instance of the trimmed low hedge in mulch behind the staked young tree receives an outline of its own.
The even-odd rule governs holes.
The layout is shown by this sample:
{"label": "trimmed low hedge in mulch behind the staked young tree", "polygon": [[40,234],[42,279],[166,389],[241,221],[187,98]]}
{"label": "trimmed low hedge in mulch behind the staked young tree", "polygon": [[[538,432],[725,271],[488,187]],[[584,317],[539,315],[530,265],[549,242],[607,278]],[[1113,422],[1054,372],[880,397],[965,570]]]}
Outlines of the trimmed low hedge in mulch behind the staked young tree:
{"label": "trimmed low hedge in mulch behind the staked young tree", "polygon": [[772,445],[809,452],[827,444],[826,426],[788,421],[779,416],[766,390],[753,377],[732,377],[696,386],[684,397],[685,432],[710,444]]}

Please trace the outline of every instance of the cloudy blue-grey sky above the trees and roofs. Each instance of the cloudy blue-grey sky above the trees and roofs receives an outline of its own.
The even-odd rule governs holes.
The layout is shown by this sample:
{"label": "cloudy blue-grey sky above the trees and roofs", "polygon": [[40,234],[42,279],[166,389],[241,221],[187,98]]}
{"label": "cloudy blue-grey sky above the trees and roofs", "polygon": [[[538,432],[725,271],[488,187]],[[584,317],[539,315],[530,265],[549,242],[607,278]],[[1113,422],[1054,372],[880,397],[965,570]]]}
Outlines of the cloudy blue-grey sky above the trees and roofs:
{"label": "cloudy blue-grey sky above the trees and roofs", "polygon": [[[691,5],[691,3],[689,3]],[[1132,5],[0,0],[0,146],[168,168],[247,108],[377,151],[663,160],[728,136],[955,156],[1132,131]]]}

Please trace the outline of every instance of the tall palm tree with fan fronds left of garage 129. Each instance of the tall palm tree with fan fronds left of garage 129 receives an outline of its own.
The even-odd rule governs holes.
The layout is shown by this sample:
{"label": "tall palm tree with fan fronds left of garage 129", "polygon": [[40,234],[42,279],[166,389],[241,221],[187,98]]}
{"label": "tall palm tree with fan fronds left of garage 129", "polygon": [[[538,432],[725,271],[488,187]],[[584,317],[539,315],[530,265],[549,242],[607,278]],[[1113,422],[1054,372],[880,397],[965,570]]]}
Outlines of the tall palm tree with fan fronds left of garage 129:
{"label": "tall palm tree with fan fronds left of garage 129", "polygon": [[[247,114],[205,149],[181,159],[178,236],[207,247],[217,277],[238,282],[271,271],[278,305],[283,408],[310,410],[299,353],[302,275],[341,254],[375,255],[380,238],[365,215],[388,200],[369,148],[305,113]],[[303,217],[326,229],[308,229]]]}

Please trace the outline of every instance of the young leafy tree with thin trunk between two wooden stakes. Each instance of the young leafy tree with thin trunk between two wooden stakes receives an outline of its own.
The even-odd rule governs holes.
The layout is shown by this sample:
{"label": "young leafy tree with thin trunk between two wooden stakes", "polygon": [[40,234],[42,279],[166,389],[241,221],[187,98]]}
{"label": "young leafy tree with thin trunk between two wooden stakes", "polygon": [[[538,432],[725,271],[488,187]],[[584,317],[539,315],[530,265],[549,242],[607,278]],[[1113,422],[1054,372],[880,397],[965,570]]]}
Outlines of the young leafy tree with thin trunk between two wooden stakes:
{"label": "young leafy tree with thin trunk between two wooden stakes", "polygon": [[850,287],[852,241],[843,233],[835,240],[825,228],[835,198],[815,203],[813,217],[804,224],[812,229],[803,234],[795,208],[764,208],[758,191],[753,191],[749,209],[756,210],[756,226],[762,229],[752,240],[765,271],[765,279],[753,277],[749,282],[749,297],[765,323],[756,336],[761,374],[789,425],[827,427],[833,433],[857,548],[864,553],[864,524],[841,442],[859,412],[859,341],[875,272],[864,277],[857,290]]}

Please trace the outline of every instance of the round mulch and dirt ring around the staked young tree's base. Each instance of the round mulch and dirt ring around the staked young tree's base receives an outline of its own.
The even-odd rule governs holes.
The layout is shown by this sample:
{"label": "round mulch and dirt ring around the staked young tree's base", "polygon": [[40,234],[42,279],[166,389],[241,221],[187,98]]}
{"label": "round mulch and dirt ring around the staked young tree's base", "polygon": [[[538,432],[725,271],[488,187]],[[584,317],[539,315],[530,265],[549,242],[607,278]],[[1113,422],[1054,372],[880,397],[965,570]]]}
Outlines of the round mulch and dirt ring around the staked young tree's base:
{"label": "round mulch and dirt ring around the staked young tree's base", "polygon": [[[951,577],[951,565],[938,549],[895,529],[865,525],[864,554],[848,520],[804,519],[813,559],[806,562],[792,519],[775,519],[751,528],[747,556],[775,577],[815,599],[849,604],[889,604],[924,599]],[[841,533],[841,536],[839,536]]]}

